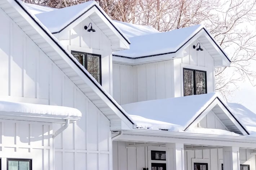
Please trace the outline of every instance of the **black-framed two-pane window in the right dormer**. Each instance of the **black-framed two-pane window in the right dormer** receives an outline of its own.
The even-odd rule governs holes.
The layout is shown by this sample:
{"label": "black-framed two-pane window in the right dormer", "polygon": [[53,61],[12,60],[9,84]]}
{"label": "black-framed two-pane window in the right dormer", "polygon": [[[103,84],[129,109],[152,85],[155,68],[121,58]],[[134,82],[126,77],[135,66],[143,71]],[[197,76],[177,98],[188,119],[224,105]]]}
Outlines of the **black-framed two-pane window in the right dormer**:
{"label": "black-framed two-pane window in the right dormer", "polygon": [[206,72],[183,68],[184,96],[207,93]]}

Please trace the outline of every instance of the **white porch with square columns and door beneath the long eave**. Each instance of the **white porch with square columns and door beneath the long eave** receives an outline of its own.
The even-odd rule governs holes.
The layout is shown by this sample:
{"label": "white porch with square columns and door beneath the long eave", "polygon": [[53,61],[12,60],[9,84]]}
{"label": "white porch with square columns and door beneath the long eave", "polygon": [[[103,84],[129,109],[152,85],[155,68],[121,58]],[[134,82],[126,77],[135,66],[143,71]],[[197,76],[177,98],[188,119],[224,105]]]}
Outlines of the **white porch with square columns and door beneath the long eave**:
{"label": "white porch with square columns and door beneath the long eave", "polygon": [[137,129],[120,135],[112,149],[114,170],[256,170],[256,144],[248,136]]}

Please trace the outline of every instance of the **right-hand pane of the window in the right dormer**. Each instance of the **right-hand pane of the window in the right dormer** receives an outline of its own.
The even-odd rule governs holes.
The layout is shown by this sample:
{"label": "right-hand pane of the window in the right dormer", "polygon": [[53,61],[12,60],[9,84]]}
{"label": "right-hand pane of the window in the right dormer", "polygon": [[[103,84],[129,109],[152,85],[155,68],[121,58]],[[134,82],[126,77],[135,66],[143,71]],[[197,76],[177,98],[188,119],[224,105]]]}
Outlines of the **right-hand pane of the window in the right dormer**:
{"label": "right-hand pane of the window in the right dormer", "polygon": [[205,72],[195,72],[196,95],[206,93]]}

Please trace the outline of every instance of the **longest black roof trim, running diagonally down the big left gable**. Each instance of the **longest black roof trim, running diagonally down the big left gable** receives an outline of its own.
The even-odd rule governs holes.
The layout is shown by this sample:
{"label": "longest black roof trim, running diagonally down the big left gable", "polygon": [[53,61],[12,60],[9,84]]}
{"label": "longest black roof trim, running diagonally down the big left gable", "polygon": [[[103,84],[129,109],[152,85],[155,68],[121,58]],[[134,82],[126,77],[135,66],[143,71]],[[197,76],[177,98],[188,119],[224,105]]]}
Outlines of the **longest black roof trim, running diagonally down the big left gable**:
{"label": "longest black roof trim, running diagonally down the big left gable", "polygon": [[131,119],[129,119],[128,116],[125,115],[124,112],[115,104],[115,102],[112,101],[111,98],[100,88],[100,86],[99,86],[97,83],[95,83],[95,82],[93,81],[93,79],[92,79],[86,72],[84,72],[84,70],[71,58],[71,56],[66,52],[66,50],[64,50],[64,49],[62,48],[62,46],[59,45],[59,43],[58,43],[57,41],[55,41],[54,38],[52,38],[52,36],[49,35],[49,33],[48,33],[47,31],[45,31],[45,29],[36,21],[36,19],[30,15],[30,13],[20,4],[19,0],[14,0],[14,1],[28,14],[28,16],[29,16],[32,20],[34,20],[34,22],[49,36],[49,38],[50,38],[54,43],[56,43],[56,45],[70,58],[70,60],[81,70],[81,72],[83,72],[83,73],[86,75],[86,77],[87,77],[87,78],[88,78],[88,79],[89,79],[89,80],[90,80],[90,81],[91,81],[91,82],[92,82],[92,83],[93,83],[110,101],[111,101],[111,103],[112,103],[114,106],[116,106],[116,108],[125,116],[125,118],[127,118],[132,124],[134,124],[133,121],[132,121]]}

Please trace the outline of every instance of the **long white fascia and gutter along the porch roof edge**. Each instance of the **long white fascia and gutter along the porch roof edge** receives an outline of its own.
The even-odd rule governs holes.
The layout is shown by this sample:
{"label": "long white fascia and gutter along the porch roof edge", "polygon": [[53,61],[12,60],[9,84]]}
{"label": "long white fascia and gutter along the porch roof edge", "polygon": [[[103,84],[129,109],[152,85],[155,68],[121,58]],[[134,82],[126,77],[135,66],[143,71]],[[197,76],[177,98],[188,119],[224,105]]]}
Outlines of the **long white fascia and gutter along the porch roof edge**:
{"label": "long white fascia and gutter along the porch roof edge", "polygon": [[162,130],[134,129],[125,131],[118,141],[200,144],[206,146],[237,146],[256,148],[256,137],[168,132]]}

